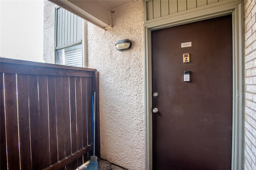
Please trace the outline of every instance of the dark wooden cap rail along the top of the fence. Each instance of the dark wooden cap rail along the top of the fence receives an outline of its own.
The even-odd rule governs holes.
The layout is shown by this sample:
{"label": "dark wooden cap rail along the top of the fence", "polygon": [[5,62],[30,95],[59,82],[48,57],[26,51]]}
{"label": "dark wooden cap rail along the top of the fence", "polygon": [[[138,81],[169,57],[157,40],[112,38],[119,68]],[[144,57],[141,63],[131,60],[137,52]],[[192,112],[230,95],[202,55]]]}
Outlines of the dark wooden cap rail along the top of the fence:
{"label": "dark wooden cap rail along the top of the fence", "polygon": [[[24,61],[24,60],[16,60],[16,59],[7,59],[0,57],[0,64],[19,64],[24,66],[42,66],[42,67],[49,67],[49,68],[62,68],[67,70],[81,70],[81,71],[97,71],[94,68],[83,68],[83,67],[74,67],[74,66],[64,66],[58,64],[49,64],[49,63],[39,63],[34,61]],[[2,72],[2,71],[1,71]]]}

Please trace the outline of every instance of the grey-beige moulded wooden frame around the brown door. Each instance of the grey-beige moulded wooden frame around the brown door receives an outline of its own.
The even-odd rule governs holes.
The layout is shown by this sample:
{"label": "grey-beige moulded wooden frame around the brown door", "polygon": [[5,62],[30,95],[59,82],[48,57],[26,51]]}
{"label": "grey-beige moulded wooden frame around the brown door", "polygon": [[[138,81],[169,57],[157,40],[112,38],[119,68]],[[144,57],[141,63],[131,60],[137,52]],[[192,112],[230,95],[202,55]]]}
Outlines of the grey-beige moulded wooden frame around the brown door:
{"label": "grey-beige moulded wooden frame around the brown door", "polygon": [[[144,17],[146,2],[144,2]],[[221,1],[144,24],[145,170],[152,170],[151,31],[232,14],[232,170],[244,169],[244,2]]]}

